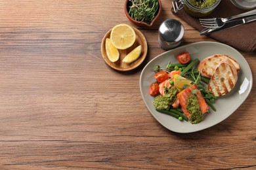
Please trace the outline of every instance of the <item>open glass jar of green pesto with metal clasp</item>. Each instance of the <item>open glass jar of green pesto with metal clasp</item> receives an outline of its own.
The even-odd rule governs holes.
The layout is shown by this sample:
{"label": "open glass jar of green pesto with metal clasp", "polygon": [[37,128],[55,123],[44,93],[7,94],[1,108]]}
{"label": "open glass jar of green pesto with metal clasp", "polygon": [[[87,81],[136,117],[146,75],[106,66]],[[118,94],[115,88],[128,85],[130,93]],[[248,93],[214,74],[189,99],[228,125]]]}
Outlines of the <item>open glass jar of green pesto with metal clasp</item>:
{"label": "open glass jar of green pesto with metal clasp", "polygon": [[184,8],[190,16],[203,18],[211,14],[220,2],[221,0],[173,0],[173,9],[177,12]]}

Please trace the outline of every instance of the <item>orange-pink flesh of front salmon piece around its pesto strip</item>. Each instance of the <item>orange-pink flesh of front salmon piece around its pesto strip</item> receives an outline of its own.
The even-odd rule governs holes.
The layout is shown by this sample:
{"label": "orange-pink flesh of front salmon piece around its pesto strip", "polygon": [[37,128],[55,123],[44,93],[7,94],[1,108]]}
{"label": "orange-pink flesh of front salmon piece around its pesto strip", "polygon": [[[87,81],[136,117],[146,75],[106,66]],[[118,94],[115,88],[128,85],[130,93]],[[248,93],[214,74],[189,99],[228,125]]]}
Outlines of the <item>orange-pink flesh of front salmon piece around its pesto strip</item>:
{"label": "orange-pink flesh of front salmon piece around its pesto strip", "polygon": [[203,99],[203,96],[202,96],[200,90],[198,90],[198,86],[196,84],[193,84],[192,86],[188,86],[188,88],[185,88],[184,90],[182,90],[179,93],[179,95],[177,95],[177,97],[179,99],[179,103],[181,105],[181,109],[183,110],[184,114],[188,118],[190,118],[190,113],[186,109],[186,106],[188,105],[188,97],[190,97],[190,95],[192,95],[193,90],[196,90],[195,94],[197,95],[198,103],[200,105],[202,114],[204,114],[205,112],[208,112],[208,110],[209,110],[205,99]]}

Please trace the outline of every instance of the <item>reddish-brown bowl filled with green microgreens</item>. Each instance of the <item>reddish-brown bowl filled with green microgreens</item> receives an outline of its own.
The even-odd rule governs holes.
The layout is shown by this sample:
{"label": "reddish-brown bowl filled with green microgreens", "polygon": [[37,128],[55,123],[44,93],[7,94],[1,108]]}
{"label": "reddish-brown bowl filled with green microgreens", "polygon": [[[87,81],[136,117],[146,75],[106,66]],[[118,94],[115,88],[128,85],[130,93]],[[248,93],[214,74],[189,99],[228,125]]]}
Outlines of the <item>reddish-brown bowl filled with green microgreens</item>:
{"label": "reddish-brown bowl filled with green microgreens", "polygon": [[160,0],[125,0],[125,15],[136,25],[151,27],[160,13]]}

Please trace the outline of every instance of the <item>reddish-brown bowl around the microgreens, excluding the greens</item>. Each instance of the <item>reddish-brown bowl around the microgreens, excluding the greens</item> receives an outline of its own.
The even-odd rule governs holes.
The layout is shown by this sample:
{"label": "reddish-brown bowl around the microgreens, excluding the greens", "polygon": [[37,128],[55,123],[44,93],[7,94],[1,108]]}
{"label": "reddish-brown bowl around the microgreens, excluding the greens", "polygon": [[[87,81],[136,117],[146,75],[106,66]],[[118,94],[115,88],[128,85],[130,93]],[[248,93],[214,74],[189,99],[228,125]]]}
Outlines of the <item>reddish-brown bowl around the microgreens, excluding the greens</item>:
{"label": "reddish-brown bowl around the microgreens, excluding the greens", "polygon": [[131,5],[131,2],[129,0],[125,0],[125,15],[127,16],[127,18],[133,22],[133,24],[136,24],[136,25],[139,25],[139,26],[146,26],[146,27],[151,27],[154,22],[159,18],[160,16],[160,13],[161,13],[161,1],[158,0],[158,11],[157,11],[157,14],[155,16],[155,18],[152,20],[152,22],[150,24],[146,23],[146,22],[139,22],[135,19],[133,19],[130,15],[129,15],[129,6]]}

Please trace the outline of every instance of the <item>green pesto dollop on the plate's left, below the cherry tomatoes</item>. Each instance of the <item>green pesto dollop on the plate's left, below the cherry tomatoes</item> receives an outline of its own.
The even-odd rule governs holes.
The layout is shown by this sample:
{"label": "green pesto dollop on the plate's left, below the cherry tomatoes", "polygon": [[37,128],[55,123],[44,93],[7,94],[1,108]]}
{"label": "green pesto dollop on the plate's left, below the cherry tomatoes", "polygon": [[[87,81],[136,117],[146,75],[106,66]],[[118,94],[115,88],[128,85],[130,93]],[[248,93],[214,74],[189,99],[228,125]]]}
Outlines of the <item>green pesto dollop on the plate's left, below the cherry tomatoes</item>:
{"label": "green pesto dollop on the plate's left, below the cherry tomatoes", "polygon": [[177,97],[178,89],[175,87],[171,87],[167,90],[167,93],[165,95],[161,96],[158,95],[154,98],[154,106],[156,109],[160,110],[169,110],[170,106],[173,104]]}

